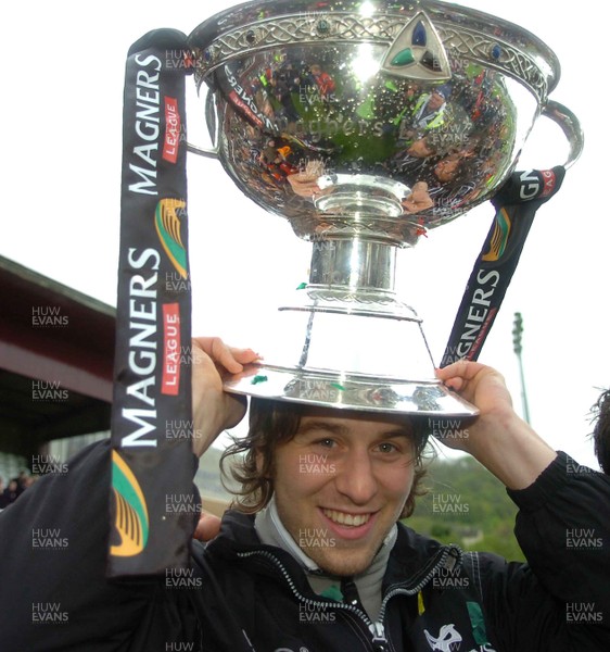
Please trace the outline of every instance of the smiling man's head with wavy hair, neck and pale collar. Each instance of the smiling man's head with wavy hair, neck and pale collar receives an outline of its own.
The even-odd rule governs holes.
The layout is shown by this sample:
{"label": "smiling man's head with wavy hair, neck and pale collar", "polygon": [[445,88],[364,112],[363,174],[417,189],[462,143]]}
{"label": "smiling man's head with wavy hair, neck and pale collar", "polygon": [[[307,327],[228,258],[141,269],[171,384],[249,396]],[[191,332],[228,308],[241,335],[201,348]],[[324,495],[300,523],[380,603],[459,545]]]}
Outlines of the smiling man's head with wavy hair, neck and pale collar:
{"label": "smiling man's head with wavy hair, neck and pale collar", "polygon": [[[260,399],[252,399],[251,414],[251,436],[226,457],[246,451],[236,475],[247,487],[242,507],[256,512],[258,538],[297,560],[316,594],[351,591],[374,623],[396,523],[412,512],[423,476],[427,436],[404,415]],[[269,423],[283,434],[275,441],[259,429]]]}

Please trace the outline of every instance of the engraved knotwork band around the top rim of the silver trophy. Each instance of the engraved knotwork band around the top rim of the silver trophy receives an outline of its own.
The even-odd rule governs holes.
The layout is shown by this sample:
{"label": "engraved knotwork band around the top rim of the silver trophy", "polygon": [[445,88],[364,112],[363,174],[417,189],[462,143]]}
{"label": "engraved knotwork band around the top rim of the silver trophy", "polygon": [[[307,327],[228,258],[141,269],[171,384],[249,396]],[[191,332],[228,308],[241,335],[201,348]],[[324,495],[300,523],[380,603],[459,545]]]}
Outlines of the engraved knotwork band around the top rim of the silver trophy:
{"label": "engraved knotwork band around the top rim of the silver trophy", "polygon": [[[458,51],[459,57],[470,59],[488,67],[499,70],[508,76],[517,79],[529,88],[544,104],[548,95],[557,87],[561,77],[561,64],[555,51],[538,36],[529,29],[501,18],[492,13],[481,10],[463,7],[454,2],[443,0],[417,0],[415,4],[404,3],[399,8],[392,0],[376,0],[377,14],[383,20],[383,25],[376,36],[374,29],[370,29],[368,24],[365,26],[365,34],[361,37],[345,37],[343,40],[332,36],[332,29],[329,33],[320,33],[315,23],[329,17],[353,15],[354,10],[348,8],[331,8],[326,11],[312,11],[309,0],[254,0],[241,2],[234,7],[218,12],[203,23],[198,25],[188,36],[189,47],[199,50],[200,55],[195,58],[194,68],[195,83],[198,88],[205,80],[208,74],[225,63],[237,58],[247,57],[251,53],[264,51],[267,49],[290,46],[306,45],[330,45],[338,42],[345,45],[354,43],[373,43],[391,46],[399,28],[405,24],[407,15],[401,10],[408,8],[410,13],[429,12],[434,22],[434,26],[441,32],[447,30],[443,35],[443,40],[452,46],[457,39],[461,41],[460,34],[476,33],[474,28],[465,27],[463,22],[478,22],[480,25],[499,28],[503,37],[491,37],[490,40],[496,42],[501,49],[506,49],[501,57],[492,54],[493,48],[482,48],[476,43],[470,52]],[[258,16],[251,14],[257,11]],[[267,13],[260,18],[262,13]],[[386,18],[394,18],[395,34],[386,23]],[[298,21],[300,38],[302,40],[287,40],[282,36],[281,40],[276,39],[272,30],[260,30],[262,25],[271,25],[279,18]],[[306,26],[306,28],[303,28]],[[303,36],[309,32],[310,36]],[[282,32],[284,32],[282,29]],[[353,34],[357,30],[350,30]],[[510,40],[508,39],[510,36]],[[519,43],[519,45],[518,45]],[[522,47],[521,47],[522,46]],[[465,48],[465,42],[459,42],[458,48]],[[485,55],[481,52],[485,50]],[[530,72],[523,61],[528,60],[531,64]],[[546,66],[543,65],[546,64]],[[545,70],[546,67],[546,70]]]}

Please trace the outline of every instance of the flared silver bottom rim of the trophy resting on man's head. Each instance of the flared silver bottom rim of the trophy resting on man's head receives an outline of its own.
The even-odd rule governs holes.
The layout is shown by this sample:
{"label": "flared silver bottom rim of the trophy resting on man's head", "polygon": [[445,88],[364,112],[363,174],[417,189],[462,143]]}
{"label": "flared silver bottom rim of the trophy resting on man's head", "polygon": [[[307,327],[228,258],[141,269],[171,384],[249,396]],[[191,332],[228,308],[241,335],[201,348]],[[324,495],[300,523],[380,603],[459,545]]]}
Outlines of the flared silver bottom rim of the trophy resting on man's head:
{"label": "flared silver bottom rim of the trophy resting on man's head", "polygon": [[225,381],[229,392],[340,410],[401,413],[405,416],[468,418],[476,408],[441,381],[405,380],[322,371],[247,365]]}

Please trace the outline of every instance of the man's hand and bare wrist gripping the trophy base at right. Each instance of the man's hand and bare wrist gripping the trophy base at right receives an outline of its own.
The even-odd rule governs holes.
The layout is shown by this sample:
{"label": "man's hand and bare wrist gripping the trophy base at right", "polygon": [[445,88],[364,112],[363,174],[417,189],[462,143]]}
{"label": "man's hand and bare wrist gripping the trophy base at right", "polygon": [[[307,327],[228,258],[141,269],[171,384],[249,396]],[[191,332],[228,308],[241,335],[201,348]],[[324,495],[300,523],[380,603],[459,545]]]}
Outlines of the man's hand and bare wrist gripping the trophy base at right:
{"label": "man's hand and bare wrist gripping the trophy base at right", "polygon": [[510,489],[529,487],[556,452],[512,409],[504,377],[494,368],[460,360],[436,376],[479,409],[479,416],[441,441],[473,455]]}

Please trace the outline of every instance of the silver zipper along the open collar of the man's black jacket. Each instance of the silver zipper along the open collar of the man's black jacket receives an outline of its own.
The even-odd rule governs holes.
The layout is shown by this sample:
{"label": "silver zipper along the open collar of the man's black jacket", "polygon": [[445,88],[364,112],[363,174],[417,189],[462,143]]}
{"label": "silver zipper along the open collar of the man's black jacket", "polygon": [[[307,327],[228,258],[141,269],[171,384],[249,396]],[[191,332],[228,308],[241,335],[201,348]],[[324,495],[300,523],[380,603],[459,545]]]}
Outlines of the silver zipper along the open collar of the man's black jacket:
{"label": "silver zipper along the open collar of the man's black jacket", "polygon": [[395,587],[394,589],[390,589],[390,591],[387,591],[387,593],[385,594],[383,602],[381,603],[381,609],[379,611],[379,618],[376,623],[373,623],[369,618],[368,614],[360,611],[359,609],[356,609],[355,606],[353,606],[351,604],[344,604],[343,602],[334,602],[334,601],[333,602],[325,602],[322,600],[312,600],[310,598],[306,598],[305,595],[301,594],[298,592],[297,588],[294,586],[294,581],[292,580],[292,577],[290,576],[289,572],[284,568],[284,566],[280,562],[280,560],[278,560],[272,553],[268,552],[267,550],[253,550],[251,552],[238,552],[237,554],[240,557],[250,557],[250,556],[257,554],[257,555],[264,556],[265,559],[268,559],[269,561],[271,561],[272,564],[275,566],[277,566],[277,568],[280,570],[280,573],[282,574],[282,577],[285,579],[288,586],[290,587],[290,590],[292,591],[294,597],[300,602],[303,602],[304,604],[317,604],[317,605],[321,605],[325,607],[329,606],[331,609],[342,609],[344,611],[352,612],[353,614],[358,616],[368,627],[368,630],[370,631],[370,634],[372,636],[373,649],[377,652],[386,652],[390,648],[389,648],[387,638],[385,636],[383,618],[385,616],[385,609],[386,609],[389,600],[391,598],[393,598],[394,595],[398,595],[398,594],[414,595],[418,591],[420,591],[421,588],[423,586],[425,586],[432,579],[432,576],[434,575],[434,572],[436,570],[436,568],[439,568],[439,566],[441,566],[441,565],[444,565],[447,556],[449,555],[450,550],[454,550],[454,549],[445,548],[443,550],[443,553],[441,554],[441,559],[432,566],[432,568],[430,568],[430,570],[425,574],[425,576],[415,587],[412,587],[410,589],[406,589],[404,587]]}

